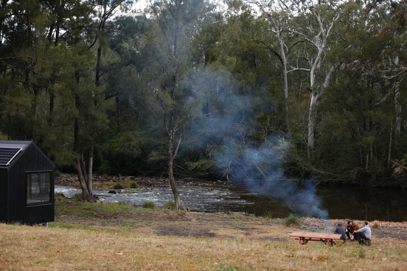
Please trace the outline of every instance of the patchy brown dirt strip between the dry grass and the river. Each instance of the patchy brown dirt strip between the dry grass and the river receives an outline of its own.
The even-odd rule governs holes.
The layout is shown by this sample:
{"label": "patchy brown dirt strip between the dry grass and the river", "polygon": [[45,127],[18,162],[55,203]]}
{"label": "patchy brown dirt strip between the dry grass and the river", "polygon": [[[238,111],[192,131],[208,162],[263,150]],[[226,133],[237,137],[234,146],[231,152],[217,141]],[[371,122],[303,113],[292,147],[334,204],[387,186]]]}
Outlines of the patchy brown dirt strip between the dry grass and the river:
{"label": "patchy brown dirt strip between the dry grass and the river", "polygon": [[[241,213],[199,213],[167,209],[150,210],[117,203],[83,203],[62,197],[56,200],[55,221],[62,226],[90,226],[126,232],[169,236],[278,241],[296,244],[292,231],[333,232],[346,220],[301,218],[299,227],[284,226],[285,219],[266,219]],[[362,225],[362,221],[357,221]],[[373,221],[373,246],[407,248],[407,223]],[[355,246],[357,242],[346,242]]]}

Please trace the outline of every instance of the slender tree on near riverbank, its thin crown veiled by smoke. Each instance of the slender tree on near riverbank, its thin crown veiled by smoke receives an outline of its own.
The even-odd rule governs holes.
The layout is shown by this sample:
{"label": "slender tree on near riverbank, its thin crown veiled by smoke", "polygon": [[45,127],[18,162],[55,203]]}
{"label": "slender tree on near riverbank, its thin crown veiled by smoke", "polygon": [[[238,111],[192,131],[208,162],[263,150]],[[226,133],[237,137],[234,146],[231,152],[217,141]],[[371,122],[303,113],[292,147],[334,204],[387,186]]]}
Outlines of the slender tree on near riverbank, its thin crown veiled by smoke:
{"label": "slender tree on near riverbank, its thin crown veiled by smoke", "polygon": [[173,163],[198,95],[193,84],[197,64],[191,61],[191,45],[214,8],[200,0],[150,1],[155,31],[150,43],[152,66],[148,87],[156,100],[152,110],[163,122],[167,137],[168,182],[177,209],[181,208],[181,200]]}

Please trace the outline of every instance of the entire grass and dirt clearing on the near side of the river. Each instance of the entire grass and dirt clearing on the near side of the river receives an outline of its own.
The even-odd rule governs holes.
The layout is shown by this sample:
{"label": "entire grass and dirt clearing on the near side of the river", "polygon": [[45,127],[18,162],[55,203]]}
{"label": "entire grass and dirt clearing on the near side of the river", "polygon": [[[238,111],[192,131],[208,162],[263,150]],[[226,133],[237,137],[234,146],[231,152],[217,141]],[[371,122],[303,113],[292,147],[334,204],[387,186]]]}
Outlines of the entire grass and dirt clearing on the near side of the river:
{"label": "entire grass and dirt clearing on the near side of the river", "polygon": [[337,221],[284,219],[81,203],[57,197],[49,228],[0,224],[6,270],[405,270],[407,223],[375,222],[371,247],[298,245],[294,230],[331,231]]}

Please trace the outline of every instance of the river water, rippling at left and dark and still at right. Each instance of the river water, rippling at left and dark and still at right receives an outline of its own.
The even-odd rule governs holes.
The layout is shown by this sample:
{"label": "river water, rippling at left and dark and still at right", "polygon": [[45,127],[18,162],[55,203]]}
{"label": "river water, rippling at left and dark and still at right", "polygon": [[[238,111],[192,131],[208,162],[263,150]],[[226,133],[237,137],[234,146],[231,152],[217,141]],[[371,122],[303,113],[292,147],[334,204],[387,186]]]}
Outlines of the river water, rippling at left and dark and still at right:
{"label": "river water, rippling at left and dark and still at right", "polygon": [[[273,218],[284,218],[299,214],[288,207],[283,199],[263,196],[247,190],[242,185],[228,182],[194,180],[179,186],[183,207],[199,212],[246,212],[255,215],[270,214]],[[172,200],[168,187],[140,188],[133,194],[108,194],[95,190],[101,202],[126,202],[140,206],[144,201],[154,201],[158,206]],[[123,190],[125,191],[125,190]],[[81,193],[80,189],[55,186],[55,193],[67,197]],[[407,192],[396,189],[366,187],[319,186],[315,191],[321,199],[321,208],[326,209],[332,219],[358,219],[382,221],[407,221]]]}

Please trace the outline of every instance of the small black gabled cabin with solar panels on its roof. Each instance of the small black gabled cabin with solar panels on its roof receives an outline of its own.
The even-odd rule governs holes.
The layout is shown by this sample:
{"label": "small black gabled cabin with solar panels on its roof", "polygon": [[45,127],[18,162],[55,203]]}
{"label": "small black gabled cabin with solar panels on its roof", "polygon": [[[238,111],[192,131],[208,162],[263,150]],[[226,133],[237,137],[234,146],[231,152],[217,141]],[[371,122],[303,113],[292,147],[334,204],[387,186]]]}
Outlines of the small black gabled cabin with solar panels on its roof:
{"label": "small black gabled cabin with solar panels on its roof", "polygon": [[33,141],[0,140],[0,222],[54,221],[54,169]]}

